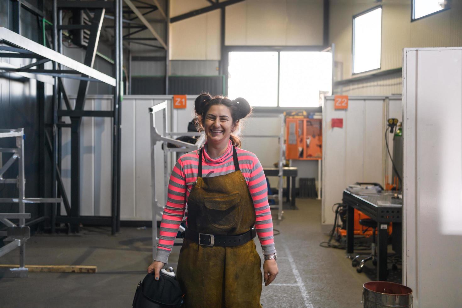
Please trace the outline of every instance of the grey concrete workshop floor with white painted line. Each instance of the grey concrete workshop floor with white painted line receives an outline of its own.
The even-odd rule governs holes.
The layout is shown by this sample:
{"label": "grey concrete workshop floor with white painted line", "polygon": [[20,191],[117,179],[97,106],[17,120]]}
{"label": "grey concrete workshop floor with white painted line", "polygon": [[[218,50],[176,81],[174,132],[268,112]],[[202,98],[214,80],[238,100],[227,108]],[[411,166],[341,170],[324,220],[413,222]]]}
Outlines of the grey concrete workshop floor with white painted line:
{"label": "grey concrete workshop floor with white painted line", "polygon": [[[264,307],[362,307],[362,284],[340,249],[321,248],[321,202],[297,199],[274,222],[279,275],[261,294]],[[257,245],[259,247],[259,244]],[[180,246],[170,255],[176,267]],[[0,258],[17,264],[18,249]],[[259,249],[261,253],[261,249]],[[36,235],[27,242],[26,264],[93,265],[97,273],[29,273],[28,278],[0,279],[1,307],[131,307],[137,283],[151,263],[151,229],[85,228],[79,235]]]}

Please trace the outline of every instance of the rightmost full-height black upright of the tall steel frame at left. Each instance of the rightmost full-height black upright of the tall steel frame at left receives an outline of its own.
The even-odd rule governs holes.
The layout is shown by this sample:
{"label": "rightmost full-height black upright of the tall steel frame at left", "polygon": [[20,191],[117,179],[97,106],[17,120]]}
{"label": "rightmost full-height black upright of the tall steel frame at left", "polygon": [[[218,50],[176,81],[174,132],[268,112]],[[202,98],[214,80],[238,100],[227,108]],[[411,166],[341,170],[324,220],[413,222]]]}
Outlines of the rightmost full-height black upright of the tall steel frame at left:
{"label": "rightmost full-height black upright of the tall steel frame at left", "polygon": [[111,203],[111,233],[120,229],[120,103],[122,81],[122,0],[114,1],[114,135],[112,150],[112,203]]}

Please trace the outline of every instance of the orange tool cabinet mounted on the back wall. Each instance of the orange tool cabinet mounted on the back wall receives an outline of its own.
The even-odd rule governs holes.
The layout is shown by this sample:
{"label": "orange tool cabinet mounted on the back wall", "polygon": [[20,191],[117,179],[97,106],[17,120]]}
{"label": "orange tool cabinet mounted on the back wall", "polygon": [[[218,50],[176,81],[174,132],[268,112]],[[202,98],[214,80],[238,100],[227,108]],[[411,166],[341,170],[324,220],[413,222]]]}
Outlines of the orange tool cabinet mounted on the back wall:
{"label": "orange tool cabinet mounted on the back wall", "polygon": [[286,159],[322,158],[322,120],[286,118]]}

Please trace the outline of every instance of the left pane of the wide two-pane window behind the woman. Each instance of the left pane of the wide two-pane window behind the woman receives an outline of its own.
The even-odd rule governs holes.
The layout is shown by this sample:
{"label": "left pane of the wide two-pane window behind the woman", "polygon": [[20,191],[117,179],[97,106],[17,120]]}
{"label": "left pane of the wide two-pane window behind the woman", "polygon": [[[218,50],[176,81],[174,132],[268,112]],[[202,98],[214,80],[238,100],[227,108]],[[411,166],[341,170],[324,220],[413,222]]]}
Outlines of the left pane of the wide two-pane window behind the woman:
{"label": "left pane of the wide two-pane window behind the woman", "polygon": [[244,97],[251,106],[278,105],[277,51],[231,51],[228,97]]}

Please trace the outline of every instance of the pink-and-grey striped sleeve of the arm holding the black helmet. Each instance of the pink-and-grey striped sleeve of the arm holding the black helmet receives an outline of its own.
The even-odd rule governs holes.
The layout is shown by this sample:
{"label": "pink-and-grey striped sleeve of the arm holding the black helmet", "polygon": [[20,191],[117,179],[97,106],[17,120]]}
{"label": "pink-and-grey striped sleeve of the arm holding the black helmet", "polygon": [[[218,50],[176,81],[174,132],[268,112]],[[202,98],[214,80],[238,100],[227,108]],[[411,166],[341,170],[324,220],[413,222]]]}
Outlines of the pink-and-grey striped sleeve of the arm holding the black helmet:
{"label": "pink-and-grey striped sleeve of the arm holding the black helmet", "polygon": [[183,220],[186,205],[186,177],[182,161],[178,159],[170,175],[167,203],[160,222],[159,242],[154,260],[167,263],[173,242]]}

